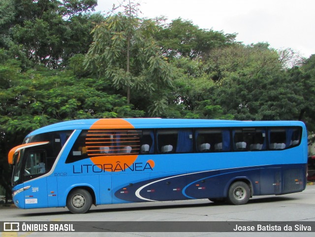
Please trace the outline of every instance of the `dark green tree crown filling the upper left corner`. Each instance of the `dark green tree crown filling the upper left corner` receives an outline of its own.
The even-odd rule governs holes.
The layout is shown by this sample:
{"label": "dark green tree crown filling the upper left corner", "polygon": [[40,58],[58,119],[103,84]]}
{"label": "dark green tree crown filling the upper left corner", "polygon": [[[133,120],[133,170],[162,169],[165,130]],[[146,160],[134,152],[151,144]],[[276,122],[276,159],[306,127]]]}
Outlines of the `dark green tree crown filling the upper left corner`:
{"label": "dark green tree crown filling the upper left corner", "polygon": [[96,0],[1,1],[0,12],[7,6],[7,13],[0,18],[0,47],[12,58],[19,58],[23,69],[30,67],[25,58],[33,65],[64,67],[74,54],[87,52],[93,22],[102,20],[99,14],[89,14],[96,3]]}

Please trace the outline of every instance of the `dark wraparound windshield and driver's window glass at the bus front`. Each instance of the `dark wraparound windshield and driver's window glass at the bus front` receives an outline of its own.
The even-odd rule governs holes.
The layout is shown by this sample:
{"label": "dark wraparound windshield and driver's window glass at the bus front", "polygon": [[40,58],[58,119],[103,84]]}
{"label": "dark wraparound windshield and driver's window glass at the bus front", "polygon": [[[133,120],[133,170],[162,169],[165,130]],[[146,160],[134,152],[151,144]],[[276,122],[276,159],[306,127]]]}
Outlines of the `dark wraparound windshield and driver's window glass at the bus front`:
{"label": "dark wraparound windshield and driver's window glass at the bus front", "polygon": [[24,144],[32,144],[14,154],[12,186],[49,172],[72,131],[29,136]]}

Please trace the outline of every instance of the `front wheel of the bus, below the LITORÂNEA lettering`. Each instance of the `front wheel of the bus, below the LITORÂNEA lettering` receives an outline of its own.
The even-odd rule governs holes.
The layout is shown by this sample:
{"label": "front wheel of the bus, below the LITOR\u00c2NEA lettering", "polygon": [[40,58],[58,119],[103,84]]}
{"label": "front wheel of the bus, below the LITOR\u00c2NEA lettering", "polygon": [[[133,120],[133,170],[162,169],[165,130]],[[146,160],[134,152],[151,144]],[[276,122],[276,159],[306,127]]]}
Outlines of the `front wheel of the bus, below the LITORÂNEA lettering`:
{"label": "front wheel of the bus, below the LITOR\u00c2NEA lettering", "polygon": [[86,213],[92,206],[92,196],[85,189],[74,189],[67,197],[66,206],[74,214]]}

